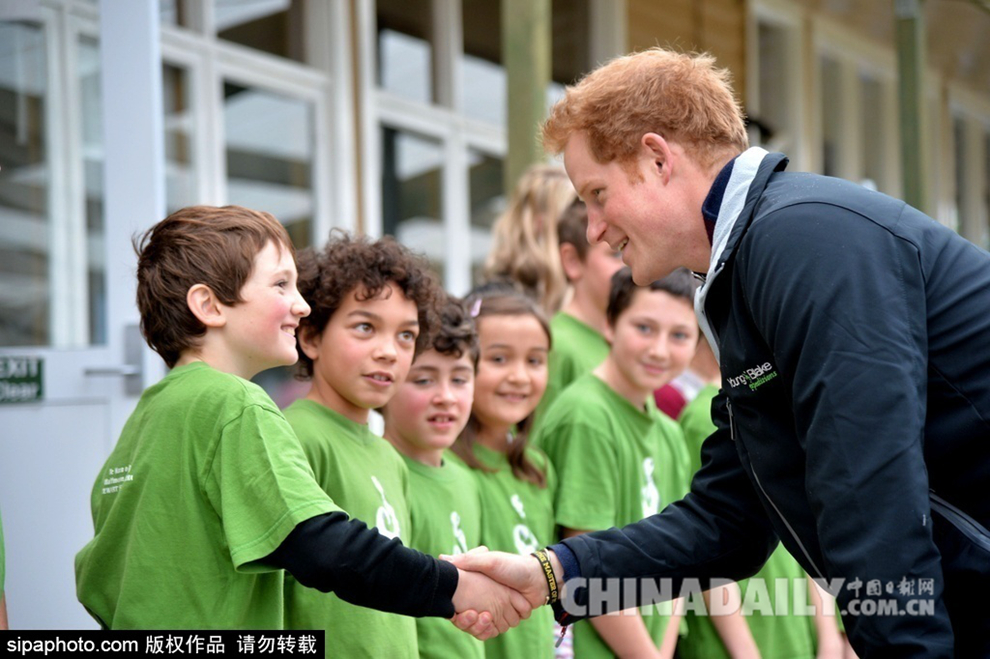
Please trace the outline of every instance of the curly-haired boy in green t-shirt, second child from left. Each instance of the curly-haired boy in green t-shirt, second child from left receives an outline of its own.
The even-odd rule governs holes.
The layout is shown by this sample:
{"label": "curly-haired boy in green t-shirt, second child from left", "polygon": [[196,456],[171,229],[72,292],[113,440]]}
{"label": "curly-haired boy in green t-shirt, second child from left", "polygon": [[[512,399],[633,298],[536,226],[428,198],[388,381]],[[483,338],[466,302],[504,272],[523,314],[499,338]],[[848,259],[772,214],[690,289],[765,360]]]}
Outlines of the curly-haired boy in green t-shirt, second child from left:
{"label": "curly-haired boy in green t-shirt, second child from left", "polygon": [[[299,289],[312,307],[297,334],[305,398],[285,409],[320,487],[389,538],[410,540],[409,471],[368,428],[368,412],[405,382],[429,345],[442,293],[429,265],[390,237],[331,234],[300,255]],[[416,657],[412,618],[324,597],[286,576],[290,629],[325,629],[327,656]],[[331,651],[332,648],[332,651]]]}

